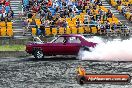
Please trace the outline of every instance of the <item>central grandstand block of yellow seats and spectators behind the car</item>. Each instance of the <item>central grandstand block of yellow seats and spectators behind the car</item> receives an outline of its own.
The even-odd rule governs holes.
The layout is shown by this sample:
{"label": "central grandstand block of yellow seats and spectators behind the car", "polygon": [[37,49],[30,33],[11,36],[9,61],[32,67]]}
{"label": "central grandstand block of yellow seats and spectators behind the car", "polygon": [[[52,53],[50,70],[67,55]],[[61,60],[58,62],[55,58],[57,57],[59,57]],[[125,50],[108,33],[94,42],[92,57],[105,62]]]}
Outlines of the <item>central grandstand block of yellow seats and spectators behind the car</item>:
{"label": "central grandstand block of yellow seats and spectators behind the car", "polygon": [[35,25],[31,27],[34,35],[37,31],[39,33],[41,31],[40,34],[45,35],[56,35],[57,33],[105,34],[106,32],[121,31],[119,27],[115,27],[119,26],[118,24],[121,25],[118,18],[112,14],[110,9],[102,6],[100,0],[48,0],[47,2],[40,0],[28,3],[24,4],[24,10],[31,11],[27,20],[30,25],[33,23]]}

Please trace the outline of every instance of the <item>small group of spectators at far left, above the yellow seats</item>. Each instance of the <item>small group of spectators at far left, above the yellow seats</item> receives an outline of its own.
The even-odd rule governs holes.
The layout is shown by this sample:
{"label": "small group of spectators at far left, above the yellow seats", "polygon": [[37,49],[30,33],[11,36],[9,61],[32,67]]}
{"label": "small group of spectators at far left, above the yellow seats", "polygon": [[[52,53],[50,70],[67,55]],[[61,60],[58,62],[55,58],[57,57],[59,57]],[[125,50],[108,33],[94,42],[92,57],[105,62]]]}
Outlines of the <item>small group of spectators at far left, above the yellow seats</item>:
{"label": "small group of spectators at far left, above the yellow seats", "polygon": [[0,21],[9,22],[14,16],[10,0],[0,0]]}

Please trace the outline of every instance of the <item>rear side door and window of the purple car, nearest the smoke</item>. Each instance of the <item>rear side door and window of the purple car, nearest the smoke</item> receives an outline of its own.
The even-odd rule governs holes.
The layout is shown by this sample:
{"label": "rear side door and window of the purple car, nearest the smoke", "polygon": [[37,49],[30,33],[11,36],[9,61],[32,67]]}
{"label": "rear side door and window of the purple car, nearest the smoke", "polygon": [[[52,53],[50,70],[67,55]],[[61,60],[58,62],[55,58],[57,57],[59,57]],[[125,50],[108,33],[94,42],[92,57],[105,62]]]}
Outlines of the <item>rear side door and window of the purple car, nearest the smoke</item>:
{"label": "rear side door and window of the purple car, nearest the smoke", "polygon": [[78,37],[69,37],[65,45],[65,54],[77,55],[81,47],[81,41]]}

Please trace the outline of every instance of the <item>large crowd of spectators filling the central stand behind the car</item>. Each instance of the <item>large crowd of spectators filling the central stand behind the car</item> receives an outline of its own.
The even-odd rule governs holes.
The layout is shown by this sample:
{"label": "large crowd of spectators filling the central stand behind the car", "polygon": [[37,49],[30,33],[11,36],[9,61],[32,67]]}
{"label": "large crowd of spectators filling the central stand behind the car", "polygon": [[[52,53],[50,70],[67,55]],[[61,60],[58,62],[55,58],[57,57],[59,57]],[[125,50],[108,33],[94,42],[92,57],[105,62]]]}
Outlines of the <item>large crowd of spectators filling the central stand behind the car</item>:
{"label": "large crowd of spectators filling the central stand behind the car", "polygon": [[[69,26],[67,18],[76,17],[80,13],[85,13],[84,20],[76,18],[76,27],[82,25],[96,27],[101,32],[116,30],[118,25],[111,24],[107,19],[112,18],[113,14],[110,9],[103,11],[100,6],[100,0],[24,0],[24,15],[28,18],[39,17],[44,27],[64,27]],[[63,20],[62,20],[63,19]],[[36,25],[35,20],[29,23],[25,20],[26,25]],[[25,27],[25,25],[24,25]],[[91,29],[92,30],[92,29]]]}

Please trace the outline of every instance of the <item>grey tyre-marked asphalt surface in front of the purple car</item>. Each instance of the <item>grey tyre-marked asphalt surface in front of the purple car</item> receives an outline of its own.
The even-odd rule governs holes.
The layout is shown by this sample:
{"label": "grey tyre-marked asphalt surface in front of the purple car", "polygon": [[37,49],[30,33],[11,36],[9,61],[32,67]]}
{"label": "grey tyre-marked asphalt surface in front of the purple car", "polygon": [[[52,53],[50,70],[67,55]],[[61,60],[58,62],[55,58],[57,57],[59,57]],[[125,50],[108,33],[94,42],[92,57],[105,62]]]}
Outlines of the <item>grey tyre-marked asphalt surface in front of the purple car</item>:
{"label": "grey tyre-marked asphalt surface in front of the purple car", "polygon": [[132,62],[82,61],[74,57],[0,59],[0,88],[132,88],[128,84],[77,84],[76,68],[87,73],[126,73],[132,75]]}

